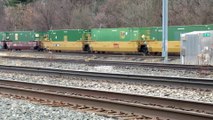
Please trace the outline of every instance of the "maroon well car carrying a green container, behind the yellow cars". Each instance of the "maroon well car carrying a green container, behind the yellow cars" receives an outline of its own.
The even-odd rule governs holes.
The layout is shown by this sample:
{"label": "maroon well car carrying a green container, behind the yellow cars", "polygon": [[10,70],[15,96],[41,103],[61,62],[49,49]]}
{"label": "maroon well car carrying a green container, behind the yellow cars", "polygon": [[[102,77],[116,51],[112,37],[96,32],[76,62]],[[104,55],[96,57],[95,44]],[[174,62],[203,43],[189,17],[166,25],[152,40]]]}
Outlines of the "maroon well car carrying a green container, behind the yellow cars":
{"label": "maroon well car carrying a green container, behind the yellow cars", "polygon": [[34,31],[11,31],[5,34],[5,49],[35,50],[39,48],[39,40],[36,40]]}

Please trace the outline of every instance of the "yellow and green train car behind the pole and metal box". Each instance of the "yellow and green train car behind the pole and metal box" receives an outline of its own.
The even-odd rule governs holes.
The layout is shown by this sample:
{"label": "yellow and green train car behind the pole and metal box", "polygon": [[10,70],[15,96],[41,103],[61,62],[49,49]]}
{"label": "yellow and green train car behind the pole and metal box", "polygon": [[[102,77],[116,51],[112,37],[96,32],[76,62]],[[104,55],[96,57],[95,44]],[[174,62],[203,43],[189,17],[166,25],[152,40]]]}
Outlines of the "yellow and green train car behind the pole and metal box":
{"label": "yellow and green train car behind the pole and metal box", "polygon": [[[168,52],[180,53],[180,35],[193,31],[213,30],[213,25],[170,26],[168,28]],[[150,53],[162,52],[162,27],[150,28],[150,39],[146,39]]]}

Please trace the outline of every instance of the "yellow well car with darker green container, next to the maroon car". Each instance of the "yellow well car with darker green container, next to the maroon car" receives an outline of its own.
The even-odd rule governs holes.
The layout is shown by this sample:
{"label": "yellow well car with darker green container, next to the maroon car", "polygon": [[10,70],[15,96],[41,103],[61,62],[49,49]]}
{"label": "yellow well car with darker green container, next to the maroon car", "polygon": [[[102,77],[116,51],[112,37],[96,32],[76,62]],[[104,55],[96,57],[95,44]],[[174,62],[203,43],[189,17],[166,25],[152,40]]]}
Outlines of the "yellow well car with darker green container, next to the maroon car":
{"label": "yellow well car with darker green container, next to the maroon car", "polygon": [[49,30],[42,47],[51,51],[83,51],[86,33],[84,29]]}

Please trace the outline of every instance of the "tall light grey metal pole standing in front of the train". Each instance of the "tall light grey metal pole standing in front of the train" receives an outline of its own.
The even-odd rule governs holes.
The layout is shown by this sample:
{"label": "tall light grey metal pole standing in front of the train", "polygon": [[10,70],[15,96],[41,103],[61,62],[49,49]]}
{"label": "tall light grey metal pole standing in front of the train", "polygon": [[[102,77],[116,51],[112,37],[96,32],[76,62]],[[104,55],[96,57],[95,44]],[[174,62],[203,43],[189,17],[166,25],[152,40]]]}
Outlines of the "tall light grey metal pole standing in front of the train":
{"label": "tall light grey metal pole standing in front of the train", "polygon": [[164,57],[164,63],[168,62],[168,0],[162,0],[162,57]]}

